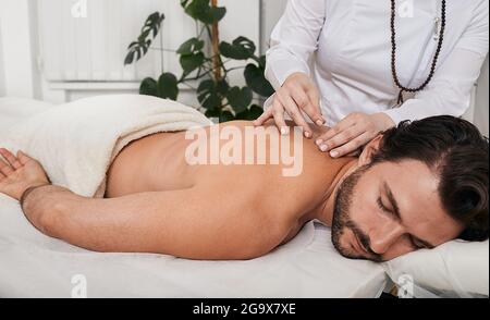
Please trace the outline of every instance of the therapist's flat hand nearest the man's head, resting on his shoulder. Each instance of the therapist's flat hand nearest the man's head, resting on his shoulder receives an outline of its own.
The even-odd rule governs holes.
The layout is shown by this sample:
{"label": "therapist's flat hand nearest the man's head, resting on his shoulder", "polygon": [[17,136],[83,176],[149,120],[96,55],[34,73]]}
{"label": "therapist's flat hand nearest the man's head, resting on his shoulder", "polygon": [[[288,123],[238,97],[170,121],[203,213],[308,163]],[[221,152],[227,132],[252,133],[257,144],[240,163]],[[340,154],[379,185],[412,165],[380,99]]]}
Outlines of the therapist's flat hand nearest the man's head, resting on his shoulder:
{"label": "therapist's flat hand nearest the man's head, resting on his shoulder", "polygon": [[316,144],[320,151],[330,152],[332,158],[354,156],[379,133],[394,126],[394,121],[385,113],[351,113],[320,136]]}

